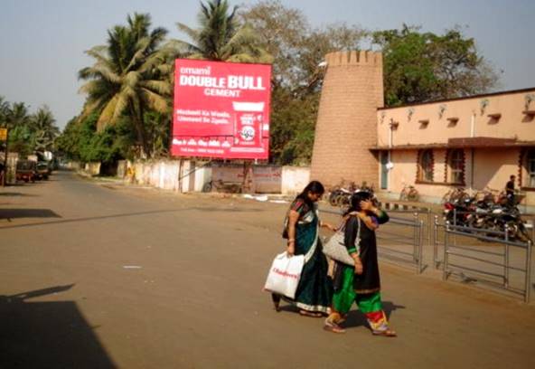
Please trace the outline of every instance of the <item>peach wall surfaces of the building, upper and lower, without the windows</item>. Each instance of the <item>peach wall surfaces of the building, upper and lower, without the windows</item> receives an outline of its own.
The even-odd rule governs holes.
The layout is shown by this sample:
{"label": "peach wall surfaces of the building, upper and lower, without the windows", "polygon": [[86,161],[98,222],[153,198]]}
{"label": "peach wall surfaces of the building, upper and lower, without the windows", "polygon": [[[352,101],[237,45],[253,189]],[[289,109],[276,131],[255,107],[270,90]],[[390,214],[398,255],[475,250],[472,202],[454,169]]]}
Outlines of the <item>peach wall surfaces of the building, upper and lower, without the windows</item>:
{"label": "peach wall surfaces of the building, upper and lower, without the windows", "polygon": [[[519,175],[525,176],[526,172],[521,165],[521,146],[535,141],[535,116],[526,113],[533,110],[535,89],[379,109],[377,147],[392,148],[393,167],[389,172],[387,192],[394,197],[399,195],[404,185],[415,185],[424,201],[439,200],[453,186],[449,183],[449,173],[446,173],[449,170],[446,166],[448,140],[471,137],[509,138],[516,140],[517,144],[464,147],[463,186],[473,192],[485,187],[501,191],[509,176],[517,175],[516,185],[521,187]],[[454,124],[448,118],[458,120]],[[422,121],[427,121],[427,124]],[[519,144],[521,146],[515,146]],[[414,148],[409,148],[411,146]],[[426,147],[435,147],[433,184],[417,181],[418,148],[423,150]],[[535,145],[526,147],[535,148]],[[535,206],[535,192],[525,190],[524,204]]]}

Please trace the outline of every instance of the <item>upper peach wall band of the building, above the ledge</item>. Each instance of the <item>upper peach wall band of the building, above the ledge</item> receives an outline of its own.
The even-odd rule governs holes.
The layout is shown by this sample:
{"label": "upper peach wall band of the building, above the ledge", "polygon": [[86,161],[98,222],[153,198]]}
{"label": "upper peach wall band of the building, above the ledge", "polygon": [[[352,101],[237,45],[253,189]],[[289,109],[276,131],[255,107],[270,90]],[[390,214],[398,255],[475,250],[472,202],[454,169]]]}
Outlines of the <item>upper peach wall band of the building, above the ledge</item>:
{"label": "upper peach wall band of the building, above the ledge", "polygon": [[[467,98],[416,106],[380,109],[377,111],[379,147],[390,145],[390,124],[398,124],[392,132],[392,145],[446,144],[448,138],[496,137],[535,140],[535,118],[522,113],[535,109],[527,103],[535,89],[482,98]],[[501,114],[501,118],[489,115]],[[456,124],[448,118],[459,118]],[[428,120],[427,127],[420,121]]]}

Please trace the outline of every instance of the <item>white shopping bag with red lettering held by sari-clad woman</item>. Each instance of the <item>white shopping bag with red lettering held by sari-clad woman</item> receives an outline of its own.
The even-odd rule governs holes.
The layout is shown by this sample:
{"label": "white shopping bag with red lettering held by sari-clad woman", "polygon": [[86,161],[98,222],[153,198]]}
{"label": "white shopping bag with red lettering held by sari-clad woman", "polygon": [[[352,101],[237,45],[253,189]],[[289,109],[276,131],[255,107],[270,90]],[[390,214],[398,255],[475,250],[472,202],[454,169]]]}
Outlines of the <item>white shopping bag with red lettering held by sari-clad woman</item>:
{"label": "white shopping bag with red lettering held by sari-clad woman", "polygon": [[264,289],[287,298],[295,298],[303,265],[305,265],[305,255],[289,257],[286,252],[278,254],[267,273]]}

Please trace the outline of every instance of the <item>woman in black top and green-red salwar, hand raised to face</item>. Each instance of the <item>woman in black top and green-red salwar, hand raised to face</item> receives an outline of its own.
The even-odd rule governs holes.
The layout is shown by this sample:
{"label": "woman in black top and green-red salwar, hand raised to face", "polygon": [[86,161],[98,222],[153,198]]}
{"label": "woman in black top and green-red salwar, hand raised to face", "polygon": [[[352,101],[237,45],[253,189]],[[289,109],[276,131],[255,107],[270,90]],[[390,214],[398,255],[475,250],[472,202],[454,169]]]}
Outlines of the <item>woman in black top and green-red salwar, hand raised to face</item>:
{"label": "woman in black top and green-red salwar, hand raised to face", "polygon": [[333,307],[324,329],[343,333],[340,324],[356,302],[368,319],[373,335],[396,336],[390,329],[380,299],[380,275],[375,230],[389,221],[389,215],[375,207],[368,192],[352,194],[351,208],[345,214],[345,247],[354,268],[336,262],[333,272]]}

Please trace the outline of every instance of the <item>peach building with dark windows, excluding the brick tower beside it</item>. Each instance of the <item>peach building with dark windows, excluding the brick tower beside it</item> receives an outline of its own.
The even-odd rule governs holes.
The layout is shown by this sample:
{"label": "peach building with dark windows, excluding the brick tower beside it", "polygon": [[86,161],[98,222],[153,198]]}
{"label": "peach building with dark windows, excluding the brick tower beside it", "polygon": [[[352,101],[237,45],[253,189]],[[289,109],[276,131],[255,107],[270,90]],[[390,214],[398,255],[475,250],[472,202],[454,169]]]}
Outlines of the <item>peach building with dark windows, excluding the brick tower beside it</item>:
{"label": "peach building with dark windows, excluding the brick tower beside it", "polygon": [[377,109],[378,184],[437,202],[456,186],[502,190],[510,175],[535,210],[535,88]]}

